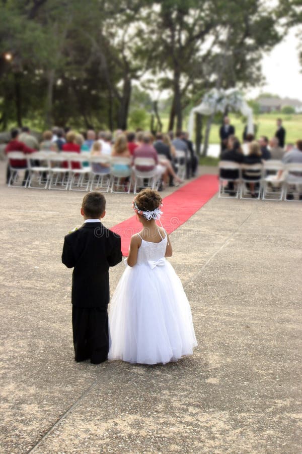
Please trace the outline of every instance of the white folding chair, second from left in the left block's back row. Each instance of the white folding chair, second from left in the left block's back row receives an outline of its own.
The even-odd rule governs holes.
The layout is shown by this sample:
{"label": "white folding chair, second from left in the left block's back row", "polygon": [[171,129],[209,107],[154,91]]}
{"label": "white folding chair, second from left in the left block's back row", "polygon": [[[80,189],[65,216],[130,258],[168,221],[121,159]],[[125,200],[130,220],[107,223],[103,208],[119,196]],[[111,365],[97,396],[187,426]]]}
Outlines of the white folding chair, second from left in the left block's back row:
{"label": "white folding chair, second from left in the left block's back row", "polygon": [[46,189],[49,181],[49,157],[44,151],[36,151],[27,156],[29,179],[28,187],[31,189]]}

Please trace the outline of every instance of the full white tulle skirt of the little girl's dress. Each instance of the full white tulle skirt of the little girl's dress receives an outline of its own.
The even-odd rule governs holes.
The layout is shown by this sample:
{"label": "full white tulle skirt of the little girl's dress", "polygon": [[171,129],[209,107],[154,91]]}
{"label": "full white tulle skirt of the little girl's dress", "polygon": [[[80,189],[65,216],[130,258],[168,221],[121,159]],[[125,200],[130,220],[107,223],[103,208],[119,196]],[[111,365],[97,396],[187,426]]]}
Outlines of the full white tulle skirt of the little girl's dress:
{"label": "full white tulle skirt of the little girl's dress", "polygon": [[157,364],[197,346],[189,302],[172,265],[125,269],[110,304],[109,360]]}

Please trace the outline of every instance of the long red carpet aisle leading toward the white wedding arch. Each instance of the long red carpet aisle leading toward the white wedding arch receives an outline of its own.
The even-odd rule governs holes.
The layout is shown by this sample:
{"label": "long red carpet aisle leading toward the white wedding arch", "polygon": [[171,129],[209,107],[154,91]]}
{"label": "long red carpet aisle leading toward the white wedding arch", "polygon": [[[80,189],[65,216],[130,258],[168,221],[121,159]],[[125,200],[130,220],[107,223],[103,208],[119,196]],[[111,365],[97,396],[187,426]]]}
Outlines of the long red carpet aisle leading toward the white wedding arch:
{"label": "long red carpet aisle leading toward the white wedding arch", "polygon": [[[163,199],[162,224],[168,234],[174,232],[180,225],[186,222],[196,211],[199,210],[218,191],[216,175],[202,175],[196,180],[182,186],[177,191]],[[123,256],[128,255],[131,236],[141,230],[141,224],[136,216],[131,216],[123,222],[115,225],[113,232],[122,238]]]}

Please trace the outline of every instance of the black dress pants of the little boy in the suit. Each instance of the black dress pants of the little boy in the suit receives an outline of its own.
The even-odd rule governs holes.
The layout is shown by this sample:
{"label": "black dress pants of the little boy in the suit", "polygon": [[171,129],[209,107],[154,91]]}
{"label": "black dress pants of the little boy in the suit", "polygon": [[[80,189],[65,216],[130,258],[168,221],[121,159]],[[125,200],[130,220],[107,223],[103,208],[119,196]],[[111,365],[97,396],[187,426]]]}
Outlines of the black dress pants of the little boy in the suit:
{"label": "black dress pants of the little boy in the suit", "polygon": [[108,313],[105,307],[72,306],[74,360],[90,359],[93,364],[107,360],[109,352]]}

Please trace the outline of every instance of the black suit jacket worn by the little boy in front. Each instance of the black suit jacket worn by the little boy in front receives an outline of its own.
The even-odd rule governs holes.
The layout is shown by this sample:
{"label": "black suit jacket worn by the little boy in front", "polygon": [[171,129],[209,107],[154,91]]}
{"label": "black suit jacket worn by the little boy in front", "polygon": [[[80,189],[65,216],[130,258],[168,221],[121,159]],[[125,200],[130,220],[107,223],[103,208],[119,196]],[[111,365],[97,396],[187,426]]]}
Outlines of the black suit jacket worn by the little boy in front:
{"label": "black suit jacket worn by the little boy in front", "polygon": [[71,303],[105,307],[109,303],[109,267],[122,260],[121,238],[101,222],[86,222],[66,235],[62,262],[73,267]]}

